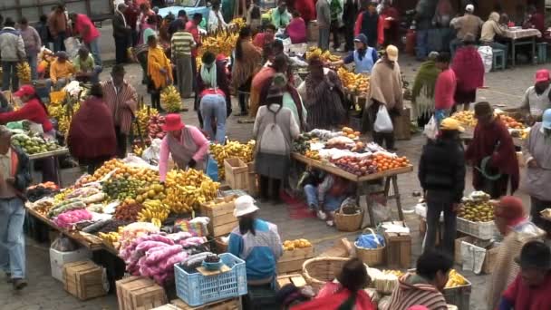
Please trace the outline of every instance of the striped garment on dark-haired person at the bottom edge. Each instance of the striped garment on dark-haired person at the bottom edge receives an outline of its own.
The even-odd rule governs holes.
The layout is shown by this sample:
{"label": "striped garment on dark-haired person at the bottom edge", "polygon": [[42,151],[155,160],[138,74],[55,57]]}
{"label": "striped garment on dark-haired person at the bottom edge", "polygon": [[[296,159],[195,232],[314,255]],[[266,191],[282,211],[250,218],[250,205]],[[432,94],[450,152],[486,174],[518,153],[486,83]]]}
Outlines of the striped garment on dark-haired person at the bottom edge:
{"label": "striped garment on dark-haired person at the bottom edge", "polygon": [[407,274],[392,292],[388,309],[407,310],[411,305],[424,305],[429,310],[447,310],[444,295],[436,287],[424,282],[420,276]]}

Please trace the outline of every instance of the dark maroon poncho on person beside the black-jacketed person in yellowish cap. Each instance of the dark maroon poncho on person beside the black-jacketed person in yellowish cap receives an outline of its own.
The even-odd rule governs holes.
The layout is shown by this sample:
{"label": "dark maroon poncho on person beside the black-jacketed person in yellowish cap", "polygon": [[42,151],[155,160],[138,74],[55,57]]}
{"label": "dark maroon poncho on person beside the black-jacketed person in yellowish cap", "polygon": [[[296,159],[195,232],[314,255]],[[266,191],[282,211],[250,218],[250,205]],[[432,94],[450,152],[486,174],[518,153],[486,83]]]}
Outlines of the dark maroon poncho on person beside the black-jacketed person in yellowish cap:
{"label": "dark maroon poncho on person beside the black-jacketed person in yellowish cap", "polygon": [[[475,128],[473,140],[465,151],[465,158],[471,160],[474,165],[480,166],[480,161],[485,157],[491,156],[489,164],[491,167],[498,168],[500,173],[510,176],[511,194],[518,189],[519,171],[517,151],[513,138],[507,131],[505,124],[496,119],[487,126],[478,123]],[[473,187],[481,189],[482,178],[480,172],[473,168]]]}

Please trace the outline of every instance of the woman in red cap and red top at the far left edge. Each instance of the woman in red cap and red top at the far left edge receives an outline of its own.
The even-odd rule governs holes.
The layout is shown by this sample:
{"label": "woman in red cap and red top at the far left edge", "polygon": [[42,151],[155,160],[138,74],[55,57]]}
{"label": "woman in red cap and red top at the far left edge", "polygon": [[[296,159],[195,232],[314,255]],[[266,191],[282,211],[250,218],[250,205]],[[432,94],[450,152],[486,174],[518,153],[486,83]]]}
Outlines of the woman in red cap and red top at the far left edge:
{"label": "woman in red cap and red top at the far left edge", "polygon": [[[42,132],[45,140],[54,140],[55,131],[53,130],[52,122],[48,118],[48,109],[36,94],[36,91],[34,91],[34,87],[23,85],[19,91],[14,92],[14,96],[19,97],[24,102],[24,106],[17,111],[0,113],[0,124],[10,121],[30,121],[31,130]],[[57,182],[55,160],[53,160],[53,157],[45,158],[42,161],[43,182]]]}

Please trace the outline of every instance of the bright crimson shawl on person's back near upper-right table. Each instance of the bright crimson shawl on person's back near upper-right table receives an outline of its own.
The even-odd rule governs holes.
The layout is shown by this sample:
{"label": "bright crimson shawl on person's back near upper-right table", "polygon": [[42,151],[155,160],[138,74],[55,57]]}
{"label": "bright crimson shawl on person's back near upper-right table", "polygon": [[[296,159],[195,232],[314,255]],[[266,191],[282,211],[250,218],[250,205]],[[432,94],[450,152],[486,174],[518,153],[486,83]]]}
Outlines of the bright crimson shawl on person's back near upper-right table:
{"label": "bright crimson shawl on person's back near upper-right table", "polygon": [[458,91],[470,92],[484,85],[484,63],[474,46],[459,48],[451,69],[458,79]]}

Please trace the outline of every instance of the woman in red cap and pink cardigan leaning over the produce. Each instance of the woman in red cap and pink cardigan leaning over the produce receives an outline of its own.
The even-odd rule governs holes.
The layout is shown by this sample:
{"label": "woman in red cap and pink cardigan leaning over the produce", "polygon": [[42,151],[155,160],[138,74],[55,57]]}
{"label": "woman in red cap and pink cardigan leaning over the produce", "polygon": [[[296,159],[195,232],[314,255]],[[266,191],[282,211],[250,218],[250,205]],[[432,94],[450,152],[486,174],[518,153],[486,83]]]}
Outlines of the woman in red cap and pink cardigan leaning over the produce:
{"label": "woman in red cap and pink cardigan leaning over the produce", "polygon": [[179,169],[204,170],[207,162],[208,140],[195,126],[184,125],[179,114],[167,115],[162,130],[167,135],[160,144],[159,176],[164,182],[167,176],[169,154]]}

